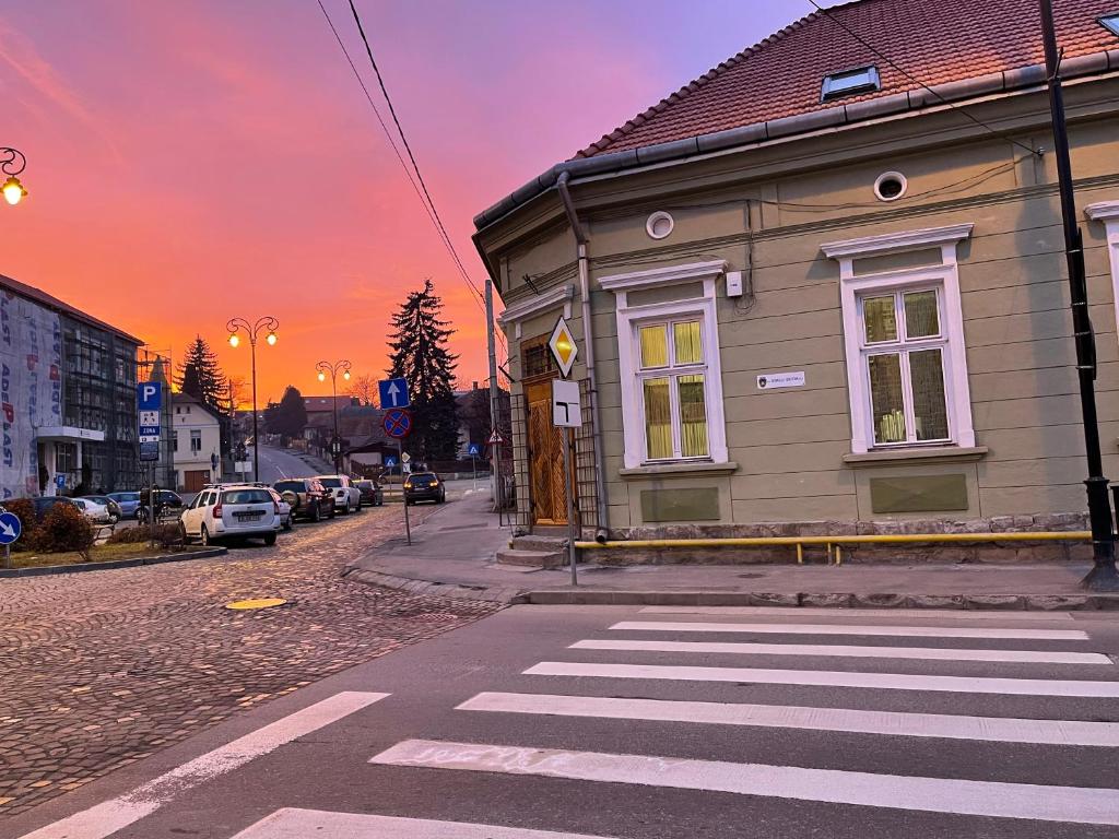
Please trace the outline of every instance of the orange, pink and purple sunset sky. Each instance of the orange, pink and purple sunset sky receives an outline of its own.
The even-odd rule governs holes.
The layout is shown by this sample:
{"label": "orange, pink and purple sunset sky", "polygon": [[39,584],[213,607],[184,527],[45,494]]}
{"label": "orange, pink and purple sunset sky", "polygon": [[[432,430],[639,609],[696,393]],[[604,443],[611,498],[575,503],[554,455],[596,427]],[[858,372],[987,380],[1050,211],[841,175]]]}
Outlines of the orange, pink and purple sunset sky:
{"label": "orange, pink and purple sunset sky", "polygon": [[[370,91],[346,0],[323,0]],[[359,0],[374,55],[454,245],[471,217],[743,47],[805,0]],[[280,320],[261,398],[321,393],[319,359],[385,368],[386,321],[431,276],[459,378],[485,318],[317,0],[6,0],[0,145],[29,197],[0,206],[0,273],[225,371],[234,315]],[[376,100],[378,106],[383,101]],[[387,110],[383,112],[388,117]]]}

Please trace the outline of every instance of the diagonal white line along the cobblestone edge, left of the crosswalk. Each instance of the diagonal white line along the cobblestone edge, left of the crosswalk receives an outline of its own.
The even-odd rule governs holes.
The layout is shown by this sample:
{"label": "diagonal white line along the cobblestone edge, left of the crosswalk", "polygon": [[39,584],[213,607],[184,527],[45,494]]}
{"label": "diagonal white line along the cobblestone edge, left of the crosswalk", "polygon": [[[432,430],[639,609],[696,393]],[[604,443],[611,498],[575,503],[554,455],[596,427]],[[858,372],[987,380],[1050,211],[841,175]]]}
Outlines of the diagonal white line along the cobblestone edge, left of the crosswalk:
{"label": "diagonal white line along the cobblestone edge, left of the crosswalk", "polygon": [[336,694],[329,699],[309,705],[244,737],[238,737],[232,743],[218,746],[131,792],[27,833],[22,839],[105,839],[156,812],[187,790],[232,772],[253,758],[266,755],[323,726],[337,723],[342,717],[386,696],[388,694],[349,690]]}

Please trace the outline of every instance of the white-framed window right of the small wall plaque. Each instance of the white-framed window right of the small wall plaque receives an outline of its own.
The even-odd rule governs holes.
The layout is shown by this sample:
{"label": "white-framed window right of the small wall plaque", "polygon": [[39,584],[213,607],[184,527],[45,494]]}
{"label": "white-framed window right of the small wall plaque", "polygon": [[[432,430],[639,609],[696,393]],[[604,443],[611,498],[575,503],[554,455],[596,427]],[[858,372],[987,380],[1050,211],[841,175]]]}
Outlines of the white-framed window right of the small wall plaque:
{"label": "white-framed window right of the small wall plaque", "polygon": [[[971,225],[834,242],[852,452],[975,447],[957,245]],[[939,248],[939,264],[859,273],[856,260]]]}

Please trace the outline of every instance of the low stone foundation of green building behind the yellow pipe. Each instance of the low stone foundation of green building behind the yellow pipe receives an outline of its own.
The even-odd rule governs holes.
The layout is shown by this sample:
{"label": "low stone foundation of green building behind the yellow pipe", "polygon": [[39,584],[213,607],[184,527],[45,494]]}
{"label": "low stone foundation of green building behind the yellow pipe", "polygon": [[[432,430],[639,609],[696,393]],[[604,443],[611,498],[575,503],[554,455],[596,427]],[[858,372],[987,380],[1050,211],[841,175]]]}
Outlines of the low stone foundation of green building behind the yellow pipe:
{"label": "low stone foundation of green building behind the yellow pipe", "polygon": [[[990,534],[1088,530],[1088,515],[997,516],[951,521],[800,521],[753,525],[666,525],[631,527],[611,532],[611,539],[720,539],[774,536],[900,536],[915,534]],[[586,538],[592,538],[589,535]],[[1031,563],[1088,560],[1088,541],[900,543],[843,545],[845,563]],[[794,563],[794,545],[727,546],[720,548],[619,548],[584,552],[600,565]],[[827,562],[827,547],[805,546],[806,563]]]}

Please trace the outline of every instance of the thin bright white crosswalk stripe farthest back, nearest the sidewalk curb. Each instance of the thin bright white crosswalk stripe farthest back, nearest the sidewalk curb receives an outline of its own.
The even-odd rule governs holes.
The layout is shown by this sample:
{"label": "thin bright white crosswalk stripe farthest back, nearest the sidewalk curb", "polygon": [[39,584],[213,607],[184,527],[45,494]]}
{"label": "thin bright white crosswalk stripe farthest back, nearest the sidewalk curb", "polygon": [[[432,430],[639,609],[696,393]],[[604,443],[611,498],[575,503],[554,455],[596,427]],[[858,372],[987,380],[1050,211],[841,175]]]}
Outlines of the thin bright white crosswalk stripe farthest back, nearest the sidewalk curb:
{"label": "thin bright white crosswalk stripe farthest back, nearest the sidewalk curb", "polygon": [[716,623],[622,621],[612,630],[640,632],[747,632],[770,635],[888,635],[892,638],[995,638],[1027,641],[1087,641],[1083,630],[1004,629],[993,626],[853,626],[841,623]]}

